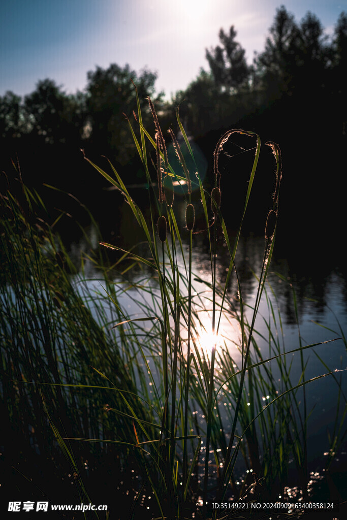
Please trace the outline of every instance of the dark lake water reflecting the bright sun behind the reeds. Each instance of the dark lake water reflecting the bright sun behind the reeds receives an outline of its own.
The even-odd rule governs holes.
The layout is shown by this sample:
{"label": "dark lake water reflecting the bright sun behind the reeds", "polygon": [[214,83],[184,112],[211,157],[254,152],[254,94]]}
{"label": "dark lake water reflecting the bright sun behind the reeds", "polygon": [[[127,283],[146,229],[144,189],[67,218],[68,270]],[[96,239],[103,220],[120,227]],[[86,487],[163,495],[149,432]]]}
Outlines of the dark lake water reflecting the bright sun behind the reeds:
{"label": "dark lake water reflecting the bright sun behind the reeds", "polygon": [[[179,215],[183,228],[185,213],[185,203],[183,201],[177,201],[176,212]],[[117,244],[124,249],[130,249],[136,243],[142,242],[143,237],[141,233],[136,231],[128,206],[124,204],[118,215],[119,218],[113,220],[111,225],[109,219],[107,219],[104,230],[101,225],[102,240]],[[92,242],[94,241],[94,245],[96,245],[97,237],[95,230],[89,228],[88,232],[89,236],[92,237]],[[184,231],[182,236],[184,237]],[[230,240],[234,236],[235,232],[230,231]],[[258,287],[256,276],[260,274],[264,243],[263,237],[255,236],[252,232],[248,232],[240,238],[238,253],[235,259],[242,302],[246,308],[245,316],[249,322],[251,321],[252,309],[256,300]],[[346,279],[343,275],[343,266],[338,261],[334,264],[335,260],[331,257],[315,256],[314,248],[311,250],[313,258],[310,258],[310,255],[307,256],[307,254],[305,256],[301,255],[299,249],[298,254],[294,255],[293,261],[292,250],[291,254],[288,254],[285,244],[286,240],[280,238],[278,248],[276,249],[275,246],[265,291],[259,307],[259,314],[255,322],[254,339],[259,347],[259,353],[251,351],[250,355],[253,362],[259,362],[261,359],[274,357],[279,353],[282,354],[299,349],[300,346],[304,347],[317,343],[318,345],[315,347],[304,349],[302,357],[299,352],[281,356],[286,358],[291,386],[302,383],[303,366],[305,367],[304,380],[306,381],[328,372],[334,372],[333,375],[328,375],[325,378],[304,385],[304,393],[303,387],[301,387],[295,394],[297,411],[293,410],[293,414],[299,413],[302,417],[306,414],[306,417],[308,417],[306,425],[307,462],[311,475],[310,482],[312,481],[311,496],[314,496],[315,493],[319,493],[320,479],[323,478],[322,475],[327,467],[329,466],[330,472],[335,471],[339,475],[341,468],[345,466],[346,462],[347,446],[344,435],[346,431],[346,422],[344,421],[345,396],[347,395],[347,380],[344,372],[346,369],[346,344],[342,339],[331,341],[341,338],[347,332]],[[85,248],[86,246],[81,245],[81,243],[74,246],[76,257],[80,255],[83,247]],[[298,248],[300,248],[299,245]],[[305,244],[303,249],[305,250]],[[146,258],[148,257],[148,251],[143,243],[132,251],[136,251],[136,254]],[[183,238],[185,257],[187,257],[187,251],[188,233],[186,233],[186,239]],[[167,258],[166,262],[168,262]],[[219,233],[216,273],[217,280],[222,285],[230,267],[229,262],[230,256],[225,246],[225,241],[222,234]],[[128,265],[125,263],[123,269],[125,270]],[[181,254],[177,254],[177,266],[178,271],[184,275],[186,267]],[[167,268],[168,264],[166,264]],[[192,272],[194,273],[194,276],[192,276],[192,294],[197,304],[198,316],[201,319],[200,337],[197,339],[197,343],[208,359],[211,354],[212,336],[212,292],[209,288],[211,264],[206,236],[203,233],[194,236]],[[94,269],[92,264],[85,265],[85,274],[88,277],[86,282],[88,290],[96,291],[98,295],[102,295],[103,290],[97,281],[99,272]],[[134,266],[132,269],[127,270],[123,276],[119,274],[112,276],[119,296],[118,302],[124,309],[126,319],[145,317],[149,311],[153,315],[161,316],[159,285],[153,270],[150,270],[147,266],[142,266],[141,269],[138,266]],[[80,282],[78,287],[81,293],[83,293],[83,283],[81,284]],[[187,295],[187,288],[183,289],[183,294]],[[153,297],[153,295],[155,296]],[[236,318],[233,318],[239,297],[239,288],[237,287],[235,276],[232,276],[224,305],[227,317],[225,318],[224,316],[221,319],[220,339],[219,344],[217,344],[217,370],[220,370],[221,365],[223,365],[221,360],[226,350],[230,358],[235,361],[235,367],[241,363],[240,324]],[[106,303],[106,307],[108,307],[108,303]],[[186,345],[187,328],[184,325],[181,328],[181,339],[183,345]],[[185,348],[183,347],[184,352],[186,352]],[[153,356],[155,356],[153,351],[148,352],[147,362],[149,366],[153,366],[153,363],[155,363],[155,360],[152,359]],[[264,370],[268,370],[272,374],[273,380],[277,381],[277,391],[274,394],[264,392],[264,395],[261,396],[265,406],[286,391],[288,381],[283,381],[284,374],[281,372],[276,359],[268,362],[261,370],[263,374],[265,373]],[[223,378],[223,374],[221,374],[221,378]],[[246,382],[246,389],[248,388],[247,385],[248,383]],[[150,393],[152,393],[151,389]],[[221,392],[220,417],[225,428],[226,437],[228,437],[227,432],[231,428],[230,418],[232,418],[232,413],[230,413],[230,409],[226,410],[223,408],[222,395],[224,396],[223,390]],[[228,406],[230,405],[226,403],[226,408]],[[203,410],[197,406],[194,414],[197,417],[199,426],[203,430],[205,427]],[[334,435],[336,437],[335,444]],[[336,451],[334,457],[332,457],[332,451],[334,453]],[[330,465],[331,459],[333,460]],[[290,488],[289,492],[287,491],[289,493],[288,497],[291,496],[292,498],[295,497],[295,492],[297,495],[300,493],[297,487],[298,482],[295,480],[297,474],[294,471],[294,465],[292,457],[289,460],[288,484]],[[201,472],[202,466],[203,464],[201,465]],[[249,469],[246,470],[247,466],[242,458],[238,460],[236,467],[239,480],[243,482],[243,479],[247,477]],[[292,472],[290,470],[291,467],[293,467]],[[212,473],[217,474],[216,469]],[[346,487],[345,478],[343,486],[344,488]],[[312,491],[312,487],[314,487],[314,491]]]}

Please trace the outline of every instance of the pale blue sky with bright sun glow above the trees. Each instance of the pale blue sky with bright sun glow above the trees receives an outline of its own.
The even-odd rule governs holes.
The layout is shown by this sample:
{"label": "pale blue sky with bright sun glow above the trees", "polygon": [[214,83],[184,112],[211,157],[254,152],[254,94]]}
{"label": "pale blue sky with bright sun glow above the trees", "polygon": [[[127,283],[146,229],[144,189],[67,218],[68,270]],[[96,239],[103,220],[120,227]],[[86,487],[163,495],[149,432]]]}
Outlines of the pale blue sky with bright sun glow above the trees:
{"label": "pale blue sky with bright sun glow above the trees", "polygon": [[312,11],[328,34],[347,11],[347,0],[1,0],[0,96],[29,94],[46,77],[75,93],[87,71],[129,63],[157,71],[169,99],[209,70],[205,49],[221,28],[234,25],[251,63],[281,4],[297,21]]}

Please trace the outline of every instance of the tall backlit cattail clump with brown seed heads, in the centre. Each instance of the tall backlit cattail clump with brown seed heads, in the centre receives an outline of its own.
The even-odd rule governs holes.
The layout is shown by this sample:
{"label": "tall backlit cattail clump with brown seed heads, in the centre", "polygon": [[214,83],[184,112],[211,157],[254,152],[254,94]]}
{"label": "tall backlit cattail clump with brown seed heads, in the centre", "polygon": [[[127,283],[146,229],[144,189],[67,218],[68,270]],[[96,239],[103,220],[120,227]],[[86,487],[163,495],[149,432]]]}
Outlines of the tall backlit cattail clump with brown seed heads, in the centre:
{"label": "tall backlit cattail clump with brown seed heads, in the centre", "polygon": [[[277,421],[276,424],[273,424],[270,407],[263,405],[261,396],[268,391],[269,387],[275,394],[277,381],[275,381],[271,371],[267,370],[266,362],[269,359],[262,357],[261,349],[254,338],[255,318],[258,315],[262,292],[266,291],[265,280],[276,236],[281,179],[280,150],[275,143],[267,143],[272,148],[276,161],[276,186],[273,206],[268,212],[265,224],[264,257],[259,269],[260,275],[259,272],[256,273],[258,286],[255,303],[253,308],[247,309],[250,317],[248,314],[246,315],[235,258],[259,160],[261,147],[259,136],[253,132],[232,129],[221,137],[214,151],[212,191],[208,192],[204,189],[201,177],[197,175],[201,207],[207,224],[204,232],[209,248],[211,268],[209,280],[205,282],[206,292],[208,292],[205,300],[209,302],[209,308],[207,308],[203,300],[205,291],[195,291],[193,285],[195,278],[192,272],[193,235],[195,234],[195,213],[198,211],[197,206],[194,206],[192,202],[191,184],[193,181],[190,179],[181,146],[172,130],[169,131],[169,134],[183,173],[181,172],[181,175],[179,175],[169,163],[155,107],[150,99],[148,99],[148,102],[155,123],[154,137],[143,127],[138,96],[138,113],[135,118],[138,125],[137,130],[132,127],[129,120],[127,122],[134,136],[136,148],[148,180],[150,180],[150,173],[146,146],[149,146],[155,154],[153,165],[157,176],[158,194],[155,189],[150,191],[149,218],[145,217],[139,205],[132,199],[121,176],[111,164],[113,177],[91,163],[115,188],[122,192],[132,209],[136,222],[145,234],[148,246],[148,254],[140,255],[135,252],[135,249],[123,251],[117,245],[103,243],[120,251],[122,258],[130,258],[132,261],[146,266],[148,272],[146,272],[145,279],[138,283],[134,282],[132,287],[145,291],[151,300],[150,304],[142,307],[144,316],[127,318],[124,310],[120,321],[116,324],[116,327],[123,327],[126,323],[130,327],[128,336],[126,331],[123,331],[122,338],[125,338],[124,341],[128,337],[135,338],[136,352],[132,350],[132,358],[128,355],[127,362],[130,366],[134,366],[134,379],[137,377],[139,384],[137,395],[133,387],[129,386],[131,388],[128,392],[129,395],[127,395],[126,389],[114,387],[114,392],[121,396],[121,401],[124,402],[125,411],[121,409],[121,417],[124,418],[124,421],[128,421],[130,425],[123,436],[119,434],[119,439],[115,439],[115,442],[119,441],[120,445],[124,445],[136,453],[137,469],[142,476],[143,487],[140,488],[140,492],[134,500],[130,516],[132,519],[139,516],[137,513],[142,490],[146,489],[147,494],[147,490],[150,489],[153,497],[151,502],[156,502],[156,506],[152,506],[152,517],[161,518],[161,520],[175,517],[183,520],[183,518],[192,517],[191,513],[194,510],[196,518],[199,518],[199,520],[202,518],[203,520],[211,520],[211,516],[213,520],[216,520],[218,511],[209,511],[207,504],[209,486],[211,485],[211,458],[213,465],[217,467],[217,481],[214,480],[214,485],[217,486],[215,501],[222,503],[226,498],[227,490],[230,490],[230,485],[234,486],[233,490],[235,496],[237,496],[238,490],[235,479],[233,479],[233,472],[238,453],[242,452],[242,436],[250,452],[248,457],[246,451],[243,451],[245,464],[252,465],[254,471],[255,465],[258,464],[255,471],[256,476],[253,477],[255,480],[253,484],[255,485],[251,484],[249,487],[253,486],[252,489],[259,493],[266,486],[271,486],[278,475],[282,478],[285,474],[286,469],[288,469],[290,450],[298,454],[298,461],[300,450],[302,450],[300,424],[295,425],[295,420],[291,414],[292,407],[295,406],[295,396],[291,399],[287,394],[292,389],[295,391],[297,387],[307,382],[290,386],[290,369],[287,369],[285,363],[282,362],[285,353],[280,352],[278,341],[278,344],[276,344],[278,350],[275,356],[269,357],[269,359],[276,359],[282,380],[289,386],[282,394],[282,396],[285,396],[282,402],[279,400],[279,397],[282,396],[273,400]],[[184,139],[182,148],[185,147],[188,150],[194,162],[194,154],[179,119],[178,109],[177,123]],[[139,133],[139,138],[136,132]],[[254,159],[248,177],[240,225],[234,242],[231,244],[221,211],[222,191],[219,158],[227,141],[238,135],[243,136],[242,138],[246,140],[255,141],[254,146],[252,145],[248,149],[248,152],[254,150]],[[196,166],[195,162],[194,166]],[[198,167],[196,167],[196,171],[198,172]],[[175,216],[173,179],[184,181],[187,186],[184,193],[186,204],[184,229]],[[211,203],[212,223],[211,210],[207,201]],[[217,279],[217,236],[220,229],[223,232],[230,258],[229,266],[224,271],[226,272],[224,279],[222,276]],[[185,244],[188,244],[188,259]],[[182,257],[181,264],[178,255]],[[152,287],[147,283],[150,277],[148,273],[150,272],[153,274]],[[230,296],[229,285],[231,282],[236,287],[237,300]],[[201,283],[204,282],[201,281]],[[111,292],[110,295],[113,298]],[[114,303],[119,309],[117,300],[114,299]],[[212,316],[209,316],[208,319],[201,319],[200,311],[202,310],[205,313],[208,310],[210,312],[211,305]],[[206,315],[206,313],[203,314],[203,316]],[[234,320],[237,323],[239,339],[234,346],[240,355],[239,366],[236,366],[232,353],[226,347],[221,354],[217,352],[218,349],[223,348],[220,347],[219,339],[217,339],[222,316],[227,319],[230,327],[232,327]],[[149,328],[142,327],[143,322],[147,326],[150,323]],[[201,346],[199,346],[199,329],[201,329],[201,326],[204,326],[205,329],[212,329],[213,344],[209,356],[201,354]],[[138,329],[135,327],[138,327]],[[271,341],[276,341],[276,334],[271,334],[269,332]],[[126,352],[126,345],[124,350]],[[149,358],[153,362],[154,368],[149,365]],[[264,369],[267,379],[261,376],[261,369]],[[150,391],[148,391],[148,384],[150,384]],[[251,397],[246,396],[246,387]],[[134,402],[136,399],[137,402]],[[251,402],[247,402],[248,399]],[[254,404],[254,401],[256,404]],[[219,407],[222,407],[222,405],[228,405],[225,406],[230,424],[228,428],[226,428],[219,411]],[[194,408],[192,408],[193,406]],[[258,406],[258,409],[256,406]],[[140,414],[140,409],[146,409],[149,417]],[[196,415],[192,414],[192,411],[196,409],[203,412],[201,414],[201,417],[204,418],[204,421],[201,420],[202,423],[198,423],[197,420],[194,423],[192,422],[196,419]],[[260,440],[254,426],[254,421],[258,419],[262,433]],[[241,428],[241,431],[239,431],[239,428]],[[286,428],[286,435],[284,428]],[[289,439],[291,432],[294,433],[292,438]],[[287,438],[288,440],[285,440]],[[260,462],[259,457],[257,457],[260,453],[260,445],[263,447],[264,453],[270,454],[274,458],[273,464],[276,474],[272,475],[270,471],[267,471],[265,467],[267,462]],[[200,452],[201,446],[204,448],[203,464],[199,459],[202,454]],[[255,460],[257,458],[258,461]],[[199,483],[194,487],[192,475],[196,474],[201,466],[204,466],[202,483],[201,486]],[[266,475],[266,479],[263,475]],[[203,488],[202,493],[201,487]],[[248,490],[246,491],[248,492]],[[199,493],[202,494],[203,508],[202,511],[197,512]],[[241,491],[238,496],[242,496]],[[199,498],[201,503],[201,497]]]}

